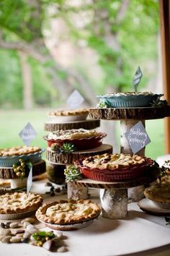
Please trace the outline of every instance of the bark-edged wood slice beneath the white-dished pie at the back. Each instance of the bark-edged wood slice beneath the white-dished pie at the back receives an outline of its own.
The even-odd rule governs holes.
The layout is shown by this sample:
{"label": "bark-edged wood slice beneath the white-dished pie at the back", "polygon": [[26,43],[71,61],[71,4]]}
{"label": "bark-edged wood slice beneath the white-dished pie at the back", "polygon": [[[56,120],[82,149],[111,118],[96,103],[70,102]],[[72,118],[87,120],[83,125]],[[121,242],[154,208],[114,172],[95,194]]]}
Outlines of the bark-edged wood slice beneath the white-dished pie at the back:
{"label": "bark-edged wood slice beneath the white-dished pie at the back", "polygon": [[58,129],[95,129],[100,126],[100,120],[83,120],[83,121],[72,121],[72,122],[66,122],[66,123],[55,123],[55,121],[48,121],[45,123],[45,131],[48,132],[54,132]]}

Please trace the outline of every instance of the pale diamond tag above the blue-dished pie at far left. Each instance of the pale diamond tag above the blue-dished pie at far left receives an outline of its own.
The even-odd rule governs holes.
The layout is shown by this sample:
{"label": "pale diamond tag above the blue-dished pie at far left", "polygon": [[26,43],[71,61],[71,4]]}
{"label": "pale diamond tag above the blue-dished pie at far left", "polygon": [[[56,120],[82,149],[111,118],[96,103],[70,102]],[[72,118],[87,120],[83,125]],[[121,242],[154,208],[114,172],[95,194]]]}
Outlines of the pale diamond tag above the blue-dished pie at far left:
{"label": "pale diamond tag above the blue-dished pie at far left", "polygon": [[36,136],[37,136],[37,132],[35,132],[35,129],[32,127],[32,125],[29,122],[24,127],[24,129],[22,129],[22,131],[19,132],[19,137],[22,138],[26,146],[29,146],[30,142],[34,140]]}

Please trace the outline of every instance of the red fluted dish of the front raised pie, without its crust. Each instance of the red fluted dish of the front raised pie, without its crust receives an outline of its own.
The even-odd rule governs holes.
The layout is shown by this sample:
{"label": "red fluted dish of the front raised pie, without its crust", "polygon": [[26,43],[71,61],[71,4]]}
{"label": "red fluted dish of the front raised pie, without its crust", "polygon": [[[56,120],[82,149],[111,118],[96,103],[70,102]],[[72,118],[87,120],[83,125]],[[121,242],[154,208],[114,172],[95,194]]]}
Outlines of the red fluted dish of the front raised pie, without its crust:
{"label": "red fluted dish of the front raised pie, without its crust", "polygon": [[87,179],[93,179],[99,182],[117,182],[129,179],[137,179],[142,176],[148,166],[152,166],[154,161],[151,158],[146,158],[146,163],[141,166],[129,166],[125,168],[115,169],[99,169],[99,168],[87,168],[83,165],[84,159],[76,161],[76,167],[80,168],[81,174]]}

